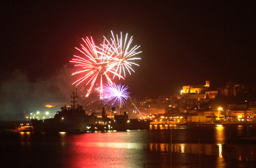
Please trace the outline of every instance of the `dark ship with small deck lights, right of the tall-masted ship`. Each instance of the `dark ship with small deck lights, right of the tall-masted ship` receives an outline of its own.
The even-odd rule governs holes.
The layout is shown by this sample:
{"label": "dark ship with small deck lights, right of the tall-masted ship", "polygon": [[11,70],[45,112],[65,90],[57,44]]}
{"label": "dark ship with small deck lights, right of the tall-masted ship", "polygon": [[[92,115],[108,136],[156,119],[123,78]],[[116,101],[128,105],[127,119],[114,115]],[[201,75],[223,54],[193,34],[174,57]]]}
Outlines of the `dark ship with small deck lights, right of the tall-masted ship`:
{"label": "dark ship with small deck lights, right of the tall-masted ship", "polygon": [[90,131],[124,131],[124,130],[142,130],[149,129],[152,120],[128,119],[127,112],[124,115],[114,115],[114,119],[107,117],[104,107],[102,108],[102,117],[97,118],[95,124],[90,125]]}

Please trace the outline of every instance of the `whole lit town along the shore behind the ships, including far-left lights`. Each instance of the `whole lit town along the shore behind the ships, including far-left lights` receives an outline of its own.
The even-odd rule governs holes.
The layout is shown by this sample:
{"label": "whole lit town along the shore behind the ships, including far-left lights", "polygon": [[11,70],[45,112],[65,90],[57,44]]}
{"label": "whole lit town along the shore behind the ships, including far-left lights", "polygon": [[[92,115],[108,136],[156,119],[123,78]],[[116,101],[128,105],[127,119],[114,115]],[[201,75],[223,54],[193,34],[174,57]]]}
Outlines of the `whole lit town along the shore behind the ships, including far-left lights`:
{"label": "whole lit town along the shore behind the ships, including far-left lights", "polygon": [[[182,86],[179,94],[159,96],[158,99],[137,100],[131,97],[119,109],[103,105],[100,100],[89,100],[84,109],[87,114],[101,117],[127,112],[130,119],[150,119],[161,123],[228,123],[256,122],[255,86],[235,84],[229,80],[223,87],[212,89],[210,81],[202,85]],[[56,111],[68,103],[45,103],[42,111],[25,114],[26,119],[53,118]],[[67,106],[68,107],[68,106]],[[113,111],[114,110],[114,111]]]}

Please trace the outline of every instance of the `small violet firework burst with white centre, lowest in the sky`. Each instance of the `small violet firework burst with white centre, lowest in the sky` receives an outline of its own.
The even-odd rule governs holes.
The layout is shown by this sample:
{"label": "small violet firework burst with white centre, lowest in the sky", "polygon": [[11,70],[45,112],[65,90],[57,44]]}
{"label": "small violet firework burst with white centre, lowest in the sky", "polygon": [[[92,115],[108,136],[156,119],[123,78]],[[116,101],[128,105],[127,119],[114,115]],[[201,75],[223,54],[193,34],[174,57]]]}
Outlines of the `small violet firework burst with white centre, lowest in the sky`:
{"label": "small violet firework burst with white centre, lowest in the sky", "polygon": [[116,109],[121,105],[126,104],[126,100],[130,98],[130,93],[127,92],[128,86],[121,86],[121,84],[104,85],[104,97],[102,99],[103,104],[109,103],[111,107]]}

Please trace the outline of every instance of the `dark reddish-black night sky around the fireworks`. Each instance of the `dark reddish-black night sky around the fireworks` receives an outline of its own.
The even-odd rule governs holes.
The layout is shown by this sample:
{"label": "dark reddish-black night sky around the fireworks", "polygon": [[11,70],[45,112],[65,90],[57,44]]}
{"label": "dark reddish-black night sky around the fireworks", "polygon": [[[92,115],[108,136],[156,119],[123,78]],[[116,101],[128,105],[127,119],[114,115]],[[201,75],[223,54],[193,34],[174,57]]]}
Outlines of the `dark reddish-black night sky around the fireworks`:
{"label": "dark reddish-black night sky around the fireworks", "polygon": [[1,94],[12,99],[10,106],[25,96],[37,99],[35,95],[40,94],[42,101],[50,102],[54,100],[49,97],[58,101],[59,92],[69,95],[64,88],[74,81],[70,77],[74,65],[69,63],[74,47],[86,36],[100,43],[111,30],[128,33],[133,36],[132,44],[141,46],[138,51],[142,53],[137,55],[141,60],[136,61],[140,66],[120,81],[139,99],[178,93],[184,85],[205,84],[205,80],[215,87],[229,78],[256,84],[254,1],[0,4]]}

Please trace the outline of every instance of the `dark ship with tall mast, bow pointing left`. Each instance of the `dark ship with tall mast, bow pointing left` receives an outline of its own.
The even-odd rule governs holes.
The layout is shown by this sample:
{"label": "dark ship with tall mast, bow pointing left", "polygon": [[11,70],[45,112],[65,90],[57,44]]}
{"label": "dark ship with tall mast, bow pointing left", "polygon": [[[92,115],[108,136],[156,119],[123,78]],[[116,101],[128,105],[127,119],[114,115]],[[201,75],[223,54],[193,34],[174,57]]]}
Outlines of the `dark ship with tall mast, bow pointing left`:
{"label": "dark ship with tall mast, bow pointing left", "polygon": [[71,132],[71,131],[85,131],[88,126],[95,124],[96,117],[94,115],[86,114],[82,105],[77,105],[75,98],[77,96],[72,92],[70,98],[73,105],[71,107],[61,107],[61,111],[57,111],[54,118],[50,119],[31,119],[34,132]]}

